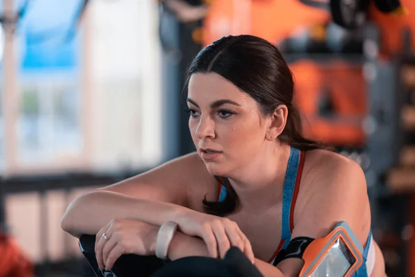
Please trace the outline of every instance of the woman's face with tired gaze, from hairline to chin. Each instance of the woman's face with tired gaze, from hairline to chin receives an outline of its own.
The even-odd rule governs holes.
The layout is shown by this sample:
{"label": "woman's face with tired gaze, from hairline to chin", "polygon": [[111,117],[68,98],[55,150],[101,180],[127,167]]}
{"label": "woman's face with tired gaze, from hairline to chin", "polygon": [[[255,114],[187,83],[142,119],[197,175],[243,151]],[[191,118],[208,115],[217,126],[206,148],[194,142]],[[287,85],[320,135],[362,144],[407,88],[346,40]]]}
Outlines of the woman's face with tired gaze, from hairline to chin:
{"label": "woman's face with tired gaze, from hairline to chin", "polygon": [[227,176],[261,152],[268,119],[247,93],[219,74],[196,73],[187,97],[192,139],[212,175]]}

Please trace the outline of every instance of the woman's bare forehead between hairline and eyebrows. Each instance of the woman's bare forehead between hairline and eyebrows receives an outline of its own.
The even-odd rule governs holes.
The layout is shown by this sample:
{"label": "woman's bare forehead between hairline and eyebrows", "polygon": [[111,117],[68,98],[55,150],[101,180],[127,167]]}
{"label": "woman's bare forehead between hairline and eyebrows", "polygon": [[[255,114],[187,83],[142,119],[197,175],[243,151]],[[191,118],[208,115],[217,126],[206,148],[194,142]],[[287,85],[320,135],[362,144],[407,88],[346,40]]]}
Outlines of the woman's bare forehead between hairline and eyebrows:
{"label": "woman's bare forehead between hairline and eyebrows", "polygon": [[188,97],[192,100],[214,101],[230,99],[239,102],[254,101],[229,80],[216,73],[196,73],[190,77]]}

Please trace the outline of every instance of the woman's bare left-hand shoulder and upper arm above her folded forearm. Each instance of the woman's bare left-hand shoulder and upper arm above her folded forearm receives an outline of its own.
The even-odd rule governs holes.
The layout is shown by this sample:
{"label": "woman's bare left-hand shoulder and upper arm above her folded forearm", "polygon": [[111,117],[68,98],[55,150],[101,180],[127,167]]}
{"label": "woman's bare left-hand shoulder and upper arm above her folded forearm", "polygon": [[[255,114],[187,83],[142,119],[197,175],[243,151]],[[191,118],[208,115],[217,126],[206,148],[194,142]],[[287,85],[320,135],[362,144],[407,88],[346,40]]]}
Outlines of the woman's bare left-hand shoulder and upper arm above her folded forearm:
{"label": "woman's bare left-hand shoulder and upper arm above her folded forearm", "polygon": [[205,191],[213,181],[199,155],[193,152],[99,190],[192,208],[194,193]]}

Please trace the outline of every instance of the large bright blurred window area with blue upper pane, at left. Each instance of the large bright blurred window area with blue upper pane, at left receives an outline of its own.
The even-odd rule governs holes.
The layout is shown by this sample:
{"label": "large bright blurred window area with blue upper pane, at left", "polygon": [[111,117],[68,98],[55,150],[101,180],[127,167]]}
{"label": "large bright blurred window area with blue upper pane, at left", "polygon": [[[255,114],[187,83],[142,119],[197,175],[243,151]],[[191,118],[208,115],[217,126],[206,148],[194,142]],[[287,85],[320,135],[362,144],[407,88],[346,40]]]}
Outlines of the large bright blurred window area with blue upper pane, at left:
{"label": "large bright blurred window area with blue upper pane, at left", "polygon": [[0,174],[136,170],[162,160],[157,3],[90,1],[74,29],[81,7],[29,1],[19,21],[17,58],[2,62],[16,85],[1,90]]}

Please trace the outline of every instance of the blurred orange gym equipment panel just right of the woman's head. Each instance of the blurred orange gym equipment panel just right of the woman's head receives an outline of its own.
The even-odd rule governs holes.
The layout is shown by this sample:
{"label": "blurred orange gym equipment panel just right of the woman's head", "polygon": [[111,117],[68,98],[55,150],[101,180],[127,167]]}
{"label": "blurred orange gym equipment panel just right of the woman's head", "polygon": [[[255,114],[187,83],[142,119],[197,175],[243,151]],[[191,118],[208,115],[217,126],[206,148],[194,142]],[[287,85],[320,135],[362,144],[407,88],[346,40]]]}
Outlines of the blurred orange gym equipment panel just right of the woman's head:
{"label": "blurred orange gym equipment panel just right of the woman's head", "polygon": [[290,64],[307,136],[337,147],[364,145],[362,121],[367,114],[367,97],[360,64],[340,60]]}

